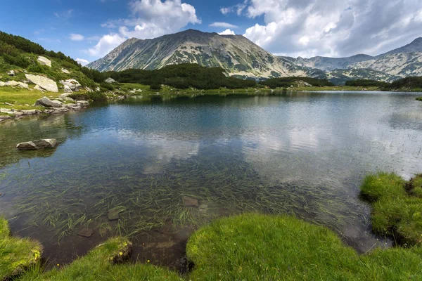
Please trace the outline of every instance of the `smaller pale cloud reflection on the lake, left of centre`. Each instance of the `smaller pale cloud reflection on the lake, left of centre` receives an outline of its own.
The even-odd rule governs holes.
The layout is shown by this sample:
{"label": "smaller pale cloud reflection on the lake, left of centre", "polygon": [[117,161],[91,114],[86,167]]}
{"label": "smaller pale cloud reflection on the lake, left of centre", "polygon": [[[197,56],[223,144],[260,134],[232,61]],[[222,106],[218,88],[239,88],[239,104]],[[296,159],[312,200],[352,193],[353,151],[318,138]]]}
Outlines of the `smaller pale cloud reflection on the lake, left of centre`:
{"label": "smaller pale cloud reflection on the lake, left of centre", "polygon": [[144,165],[144,174],[158,174],[164,165],[172,159],[188,159],[198,154],[199,142],[181,141],[165,133],[141,134],[129,130],[115,131],[116,138],[124,145],[145,148],[146,158],[149,160]]}

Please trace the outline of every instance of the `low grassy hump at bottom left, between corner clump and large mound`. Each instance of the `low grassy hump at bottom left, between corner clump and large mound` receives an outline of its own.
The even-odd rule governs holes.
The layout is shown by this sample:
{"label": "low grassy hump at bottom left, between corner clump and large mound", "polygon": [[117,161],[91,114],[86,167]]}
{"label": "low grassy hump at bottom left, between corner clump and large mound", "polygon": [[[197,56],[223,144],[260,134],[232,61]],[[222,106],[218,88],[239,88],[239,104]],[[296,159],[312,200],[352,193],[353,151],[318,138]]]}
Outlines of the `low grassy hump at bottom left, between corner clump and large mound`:
{"label": "low grassy hump at bottom left, between corner clump and large mound", "polygon": [[20,280],[181,280],[177,273],[151,264],[122,264],[131,249],[128,240],[111,238],[68,266],[46,271],[34,266]]}

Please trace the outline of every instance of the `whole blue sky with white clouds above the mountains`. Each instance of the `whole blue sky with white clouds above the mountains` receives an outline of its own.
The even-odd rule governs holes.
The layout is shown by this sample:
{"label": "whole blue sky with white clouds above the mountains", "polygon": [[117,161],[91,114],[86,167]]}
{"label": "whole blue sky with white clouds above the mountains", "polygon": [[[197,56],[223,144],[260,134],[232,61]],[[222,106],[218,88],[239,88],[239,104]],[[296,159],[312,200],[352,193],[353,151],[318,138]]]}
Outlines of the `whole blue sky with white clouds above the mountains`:
{"label": "whole blue sky with white clouds above the mountains", "polygon": [[21,0],[0,9],[0,30],[80,61],[129,37],[189,28],[243,34],[271,53],[376,55],[422,36],[420,0]]}

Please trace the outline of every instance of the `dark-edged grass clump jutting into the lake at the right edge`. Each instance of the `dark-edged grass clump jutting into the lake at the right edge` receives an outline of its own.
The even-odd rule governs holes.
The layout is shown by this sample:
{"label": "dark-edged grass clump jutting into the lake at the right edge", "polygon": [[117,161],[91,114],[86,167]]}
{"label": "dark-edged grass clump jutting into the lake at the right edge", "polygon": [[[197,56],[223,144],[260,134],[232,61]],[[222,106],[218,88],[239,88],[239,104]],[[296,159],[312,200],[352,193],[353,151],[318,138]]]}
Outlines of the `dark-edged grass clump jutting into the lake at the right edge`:
{"label": "dark-edged grass clump jutting into the lake at the right edge", "polygon": [[422,175],[405,182],[395,174],[368,175],[362,195],[373,206],[372,228],[391,235],[397,244],[411,246],[422,242]]}

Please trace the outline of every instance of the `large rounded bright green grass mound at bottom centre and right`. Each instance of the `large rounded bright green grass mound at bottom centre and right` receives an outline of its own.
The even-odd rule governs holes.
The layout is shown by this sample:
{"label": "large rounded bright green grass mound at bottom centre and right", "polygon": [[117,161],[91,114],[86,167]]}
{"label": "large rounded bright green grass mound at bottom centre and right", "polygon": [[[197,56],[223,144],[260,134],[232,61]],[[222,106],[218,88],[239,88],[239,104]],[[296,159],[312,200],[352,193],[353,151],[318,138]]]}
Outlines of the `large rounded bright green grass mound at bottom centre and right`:
{"label": "large rounded bright green grass mound at bottom centre and right", "polygon": [[188,241],[190,280],[421,280],[421,249],[359,256],[331,230],[287,216],[223,218]]}

